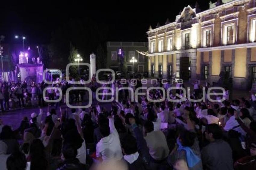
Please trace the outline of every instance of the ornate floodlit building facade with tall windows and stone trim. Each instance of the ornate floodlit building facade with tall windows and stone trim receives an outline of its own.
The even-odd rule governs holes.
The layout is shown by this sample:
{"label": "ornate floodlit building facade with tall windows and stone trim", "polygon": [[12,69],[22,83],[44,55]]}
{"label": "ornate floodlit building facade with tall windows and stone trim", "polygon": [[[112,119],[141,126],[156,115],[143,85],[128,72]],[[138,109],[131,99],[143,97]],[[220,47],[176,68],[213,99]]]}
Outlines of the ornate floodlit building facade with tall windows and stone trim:
{"label": "ornate floodlit building facade with tall windows and stone trim", "polygon": [[218,0],[206,11],[187,6],[174,22],[147,34],[153,77],[212,83],[223,71],[239,89],[256,80],[256,0]]}

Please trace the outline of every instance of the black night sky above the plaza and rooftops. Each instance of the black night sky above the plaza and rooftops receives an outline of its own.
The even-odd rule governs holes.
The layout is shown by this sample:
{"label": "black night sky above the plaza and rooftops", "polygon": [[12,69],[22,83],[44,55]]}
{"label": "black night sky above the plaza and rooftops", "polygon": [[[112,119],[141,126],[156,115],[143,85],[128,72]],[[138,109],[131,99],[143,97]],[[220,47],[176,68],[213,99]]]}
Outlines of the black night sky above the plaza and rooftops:
{"label": "black night sky above the plaza and rooftops", "polygon": [[[201,10],[209,8],[210,0],[198,0]],[[37,3],[35,3],[37,2]],[[167,18],[175,20],[187,5],[194,8],[196,0],[189,1],[118,1],[84,3],[68,1],[14,2],[2,0],[0,6],[0,35],[5,42],[14,43],[14,35],[25,35],[26,42],[48,44],[51,33],[70,18],[94,20],[108,27],[107,41],[147,41],[146,31],[157,22],[164,25]],[[216,2],[216,0],[213,0]],[[90,24],[90,23],[88,23]]]}

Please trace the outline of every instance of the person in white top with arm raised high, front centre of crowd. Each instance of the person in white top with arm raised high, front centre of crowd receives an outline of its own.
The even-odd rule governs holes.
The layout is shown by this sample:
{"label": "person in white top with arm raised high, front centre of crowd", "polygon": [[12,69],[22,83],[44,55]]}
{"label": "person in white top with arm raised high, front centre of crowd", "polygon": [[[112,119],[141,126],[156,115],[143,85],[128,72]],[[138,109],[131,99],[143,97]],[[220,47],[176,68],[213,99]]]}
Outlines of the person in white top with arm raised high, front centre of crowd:
{"label": "person in white top with arm raised high, front centre of crowd", "polygon": [[109,126],[102,124],[99,128],[102,138],[96,145],[96,156],[101,157],[103,161],[121,160],[123,153],[113,117],[109,117]]}

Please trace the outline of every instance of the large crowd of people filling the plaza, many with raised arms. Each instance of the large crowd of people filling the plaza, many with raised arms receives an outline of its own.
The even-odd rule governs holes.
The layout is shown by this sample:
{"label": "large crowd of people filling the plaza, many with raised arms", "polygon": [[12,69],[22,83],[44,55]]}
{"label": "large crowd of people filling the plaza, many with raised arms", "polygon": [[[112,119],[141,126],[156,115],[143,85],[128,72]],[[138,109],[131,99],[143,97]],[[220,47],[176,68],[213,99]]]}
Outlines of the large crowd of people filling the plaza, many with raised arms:
{"label": "large crowd of people filling the plaza, many with raised arms", "polygon": [[[115,87],[131,87],[135,90],[142,87],[141,79],[136,80],[136,85],[131,80],[126,83],[119,80],[102,87],[112,87],[113,90]],[[191,98],[200,99],[200,82],[196,80],[192,84]],[[5,84],[2,86],[2,89],[6,88]],[[32,106],[46,104],[40,96],[43,87],[59,87],[65,94],[65,90],[72,86],[65,80],[51,86],[32,83]],[[94,101],[95,91],[101,87],[95,77],[88,84],[81,80],[79,86],[91,88]],[[166,91],[171,86],[184,87],[170,81],[161,83],[161,80],[152,86],[164,87]],[[203,87],[208,88],[210,84],[205,83]],[[14,85],[14,95],[22,101],[18,88],[23,92],[24,85]],[[102,99],[111,97],[107,95],[108,89],[102,91]],[[151,90],[148,96],[152,100],[161,99],[166,91]],[[2,90],[5,101],[4,92]],[[184,96],[178,89],[167,95],[179,99],[177,93]],[[52,88],[47,90],[46,96],[58,99],[60,95],[57,88]],[[88,109],[70,110],[66,108],[67,101],[63,96],[61,102],[55,103],[47,113],[39,108],[38,113],[24,117],[18,129],[0,121],[0,169],[256,169],[254,94],[231,100],[225,88],[225,93],[216,98],[226,99],[218,102],[191,102],[187,98],[181,102],[168,99],[150,102],[147,95],[140,95],[137,101],[132,97],[130,90],[120,90],[118,100],[111,102],[109,108],[95,101]],[[77,90],[69,99],[70,102],[87,101],[88,94]]]}

